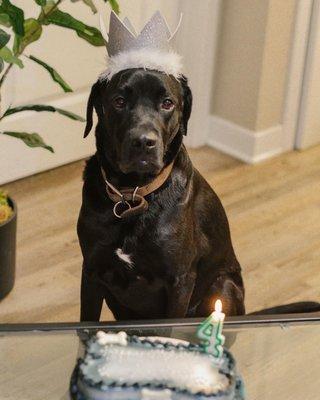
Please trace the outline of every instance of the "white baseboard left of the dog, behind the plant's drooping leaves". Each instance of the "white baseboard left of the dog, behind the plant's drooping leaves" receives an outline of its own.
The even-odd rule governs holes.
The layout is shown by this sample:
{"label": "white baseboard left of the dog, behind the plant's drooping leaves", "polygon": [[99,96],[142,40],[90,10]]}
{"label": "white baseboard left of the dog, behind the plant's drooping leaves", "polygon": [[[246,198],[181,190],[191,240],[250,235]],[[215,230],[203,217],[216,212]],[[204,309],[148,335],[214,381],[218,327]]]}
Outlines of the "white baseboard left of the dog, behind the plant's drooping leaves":
{"label": "white baseboard left of the dog, behind the plant's drooping leaves", "polygon": [[[88,90],[45,102],[85,116]],[[1,121],[1,130],[37,132],[54,153],[27,147],[22,141],[0,135],[0,184],[68,164],[94,153],[94,134],[83,139],[85,124],[56,113],[24,112]]]}

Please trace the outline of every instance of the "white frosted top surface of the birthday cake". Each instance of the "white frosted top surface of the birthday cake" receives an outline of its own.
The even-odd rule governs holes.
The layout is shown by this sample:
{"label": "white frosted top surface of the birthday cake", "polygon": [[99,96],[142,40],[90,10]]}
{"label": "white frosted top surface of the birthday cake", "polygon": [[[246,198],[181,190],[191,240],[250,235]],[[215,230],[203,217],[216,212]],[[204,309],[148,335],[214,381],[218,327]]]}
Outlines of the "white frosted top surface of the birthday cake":
{"label": "white frosted top surface of the birthday cake", "polygon": [[[112,334],[112,337],[118,335]],[[228,387],[228,378],[219,373],[212,357],[206,354],[130,343],[125,348],[119,343],[102,344],[115,344],[109,341],[109,337],[110,334],[98,333],[98,341],[90,344],[89,354],[80,367],[85,377],[94,383],[162,383],[168,388],[207,395]]]}

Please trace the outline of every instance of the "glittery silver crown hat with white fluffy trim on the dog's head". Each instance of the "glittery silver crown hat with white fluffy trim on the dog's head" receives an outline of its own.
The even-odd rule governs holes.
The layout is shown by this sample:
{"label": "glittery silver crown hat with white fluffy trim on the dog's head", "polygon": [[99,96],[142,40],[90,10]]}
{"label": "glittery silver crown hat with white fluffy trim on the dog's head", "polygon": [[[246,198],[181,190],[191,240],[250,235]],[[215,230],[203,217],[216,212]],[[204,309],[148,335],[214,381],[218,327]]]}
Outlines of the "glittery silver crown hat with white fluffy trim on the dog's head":
{"label": "glittery silver crown hat with white fluffy trim on the dog's head", "polygon": [[113,11],[110,15],[109,33],[100,16],[101,33],[108,51],[108,68],[101,78],[111,79],[113,75],[129,68],[143,68],[163,72],[179,78],[182,75],[181,56],[173,50],[180,20],[171,33],[165,18],[156,11],[139,35],[128,18],[123,22]]}

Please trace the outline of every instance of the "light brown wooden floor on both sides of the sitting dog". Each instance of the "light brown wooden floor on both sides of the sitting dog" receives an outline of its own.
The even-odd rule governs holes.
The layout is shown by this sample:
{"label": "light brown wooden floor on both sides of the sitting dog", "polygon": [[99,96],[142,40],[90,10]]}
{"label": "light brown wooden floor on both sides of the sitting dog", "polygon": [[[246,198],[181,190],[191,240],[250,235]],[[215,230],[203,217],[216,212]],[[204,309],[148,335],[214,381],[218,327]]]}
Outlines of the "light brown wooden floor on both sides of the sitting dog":
{"label": "light brown wooden floor on both sides of the sitting dog", "polygon": [[[226,208],[247,311],[320,301],[320,146],[255,166],[206,147],[190,153]],[[0,322],[78,320],[82,169],[77,162],[5,186],[19,207],[18,253]]]}

